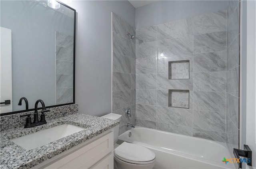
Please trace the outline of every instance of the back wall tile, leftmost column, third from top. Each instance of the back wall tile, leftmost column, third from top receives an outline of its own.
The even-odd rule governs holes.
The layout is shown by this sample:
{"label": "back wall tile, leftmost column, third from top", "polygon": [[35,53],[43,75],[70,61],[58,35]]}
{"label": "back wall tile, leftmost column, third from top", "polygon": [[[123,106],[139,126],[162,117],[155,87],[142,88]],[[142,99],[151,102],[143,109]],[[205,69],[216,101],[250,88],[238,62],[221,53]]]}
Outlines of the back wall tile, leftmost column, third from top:
{"label": "back wall tile, leftmost column, third from top", "polygon": [[136,59],[136,74],[155,74],[156,58]]}

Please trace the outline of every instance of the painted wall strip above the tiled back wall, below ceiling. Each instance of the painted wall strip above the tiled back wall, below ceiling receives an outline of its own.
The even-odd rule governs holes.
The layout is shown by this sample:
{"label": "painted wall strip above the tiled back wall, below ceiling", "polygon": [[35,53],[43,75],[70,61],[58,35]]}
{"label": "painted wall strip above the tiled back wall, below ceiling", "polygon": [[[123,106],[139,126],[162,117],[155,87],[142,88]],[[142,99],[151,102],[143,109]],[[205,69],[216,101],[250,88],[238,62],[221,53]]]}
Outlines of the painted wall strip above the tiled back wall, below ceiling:
{"label": "painted wall strip above the tiled back wall, below ceiling", "polygon": [[228,7],[226,0],[162,0],[136,8],[136,29],[188,18]]}

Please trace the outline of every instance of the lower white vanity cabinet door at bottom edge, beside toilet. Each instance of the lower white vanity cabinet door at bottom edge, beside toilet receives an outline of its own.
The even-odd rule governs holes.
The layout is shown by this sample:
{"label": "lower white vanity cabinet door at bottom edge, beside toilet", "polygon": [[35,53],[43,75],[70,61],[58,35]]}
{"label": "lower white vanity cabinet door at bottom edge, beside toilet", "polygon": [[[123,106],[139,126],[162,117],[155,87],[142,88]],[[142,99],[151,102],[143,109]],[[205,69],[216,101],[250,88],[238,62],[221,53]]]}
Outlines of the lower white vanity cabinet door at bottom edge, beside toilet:
{"label": "lower white vanity cabinet door at bottom edge, beside toilet", "polygon": [[110,153],[90,169],[114,169],[114,153]]}

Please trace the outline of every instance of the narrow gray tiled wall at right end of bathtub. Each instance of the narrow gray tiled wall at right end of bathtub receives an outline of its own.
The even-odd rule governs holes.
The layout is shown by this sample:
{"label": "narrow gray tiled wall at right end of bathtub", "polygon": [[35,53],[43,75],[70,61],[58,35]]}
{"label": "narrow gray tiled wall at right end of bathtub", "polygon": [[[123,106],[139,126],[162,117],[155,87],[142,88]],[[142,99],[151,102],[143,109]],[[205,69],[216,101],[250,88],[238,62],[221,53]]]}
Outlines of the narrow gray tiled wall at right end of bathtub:
{"label": "narrow gray tiled wall at right end of bathtub", "polygon": [[226,143],[232,157],[239,140],[239,3],[229,1],[227,10]]}

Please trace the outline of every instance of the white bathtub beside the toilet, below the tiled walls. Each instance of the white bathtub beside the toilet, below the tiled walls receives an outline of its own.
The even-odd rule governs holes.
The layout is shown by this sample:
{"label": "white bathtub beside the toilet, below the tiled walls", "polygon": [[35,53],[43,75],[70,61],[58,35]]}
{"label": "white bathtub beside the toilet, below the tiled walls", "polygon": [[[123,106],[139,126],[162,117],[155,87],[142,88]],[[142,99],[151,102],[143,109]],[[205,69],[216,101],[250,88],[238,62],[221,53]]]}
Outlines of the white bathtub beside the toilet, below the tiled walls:
{"label": "white bathtub beside the toilet, below the tiled walls", "polygon": [[[129,132],[132,136],[129,137]],[[156,129],[135,127],[118,137],[151,149],[156,154],[154,169],[234,169],[223,157],[231,158],[225,143],[200,139]]]}

